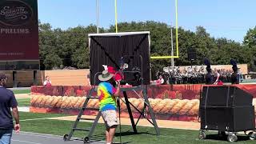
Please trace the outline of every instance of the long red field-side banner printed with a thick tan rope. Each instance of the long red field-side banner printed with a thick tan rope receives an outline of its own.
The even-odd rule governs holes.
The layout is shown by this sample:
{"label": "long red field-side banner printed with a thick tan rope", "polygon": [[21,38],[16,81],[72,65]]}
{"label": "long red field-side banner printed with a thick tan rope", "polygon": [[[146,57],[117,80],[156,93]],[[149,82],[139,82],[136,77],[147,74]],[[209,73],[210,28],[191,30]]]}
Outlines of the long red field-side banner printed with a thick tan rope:
{"label": "long red field-side banner printed with a thick tan rope", "polygon": [[[203,85],[159,85],[148,86],[147,94],[157,119],[198,122],[199,98]],[[252,94],[256,111],[256,85],[235,85]],[[89,93],[90,86],[31,86],[31,112],[78,114]],[[96,96],[96,92],[92,94]],[[142,110],[144,102],[142,91],[127,91],[130,103],[138,110]],[[124,98],[121,96],[121,116],[129,118]],[[98,99],[90,99],[89,108],[98,108]],[[134,118],[139,113],[131,106]],[[84,114],[95,115],[94,110]],[[255,112],[256,115],[256,112]]]}

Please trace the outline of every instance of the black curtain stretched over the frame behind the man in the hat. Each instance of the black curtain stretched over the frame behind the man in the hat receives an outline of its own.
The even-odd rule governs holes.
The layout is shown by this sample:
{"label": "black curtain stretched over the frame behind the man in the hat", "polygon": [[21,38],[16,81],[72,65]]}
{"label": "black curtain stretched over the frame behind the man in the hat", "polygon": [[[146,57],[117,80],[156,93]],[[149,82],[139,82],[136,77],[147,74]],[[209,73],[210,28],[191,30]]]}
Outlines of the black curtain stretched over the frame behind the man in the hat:
{"label": "black curtain stretched over the frame behind the man in the hat", "polygon": [[[135,66],[142,69],[143,84],[150,84],[150,47],[148,36],[149,33],[89,35],[91,85],[94,84],[94,75],[104,70],[102,65],[113,66],[116,70],[119,70],[121,59],[128,63],[128,71],[132,70]],[[142,62],[140,56],[142,56]],[[134,78],[134,74],[126,74],[125,76],[128,81]],[[95,83],[98,85],[98,76]]]}

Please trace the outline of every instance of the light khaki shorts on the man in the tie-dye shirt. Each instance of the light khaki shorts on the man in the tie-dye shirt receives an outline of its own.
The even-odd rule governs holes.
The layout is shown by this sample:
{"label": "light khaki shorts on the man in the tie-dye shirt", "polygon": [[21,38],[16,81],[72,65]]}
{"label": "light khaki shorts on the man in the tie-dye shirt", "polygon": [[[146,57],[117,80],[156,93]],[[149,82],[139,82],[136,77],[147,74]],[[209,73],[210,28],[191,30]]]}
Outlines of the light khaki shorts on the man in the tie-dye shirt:
{"label": "light khaki shorts on the man in the tie-dye shirt", "polygon": [[101,113],[106,128],[110,128],[111,126],[118,126],[117,112],[115,110],[106,110],[102,111]]}

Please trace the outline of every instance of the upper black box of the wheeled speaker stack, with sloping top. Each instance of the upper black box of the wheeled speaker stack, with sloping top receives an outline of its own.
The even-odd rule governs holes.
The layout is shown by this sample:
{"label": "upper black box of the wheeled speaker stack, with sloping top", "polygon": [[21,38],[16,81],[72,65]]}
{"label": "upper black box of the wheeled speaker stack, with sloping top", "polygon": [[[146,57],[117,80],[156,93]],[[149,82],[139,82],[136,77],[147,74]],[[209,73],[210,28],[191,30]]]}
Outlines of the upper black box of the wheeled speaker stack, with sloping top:
{"label": "upper black box of the wheeled speaker stack, with sloping top", "polygon": [[236,86],[203,86],[200,106],[252,106],[253,96]]}

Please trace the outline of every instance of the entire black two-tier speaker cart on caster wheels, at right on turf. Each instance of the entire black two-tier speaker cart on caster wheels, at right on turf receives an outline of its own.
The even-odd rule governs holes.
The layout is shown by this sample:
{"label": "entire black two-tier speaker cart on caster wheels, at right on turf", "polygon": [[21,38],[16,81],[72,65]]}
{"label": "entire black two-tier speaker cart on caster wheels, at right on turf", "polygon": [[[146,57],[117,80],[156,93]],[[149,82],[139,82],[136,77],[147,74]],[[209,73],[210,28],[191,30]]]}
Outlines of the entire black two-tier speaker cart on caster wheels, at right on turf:
{"label": "entire black two-tier speaker cart on caster wheels, at right on turf", "polygon": [[206,138],[207,130],[227,134],[228,142],[237,142],[237,133],[243,131],[256,139],[253,96],[236,86],[203,86],[199,116],[199,139]]}

